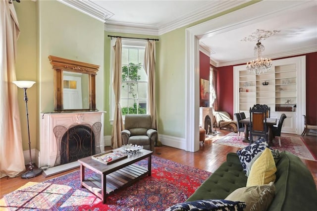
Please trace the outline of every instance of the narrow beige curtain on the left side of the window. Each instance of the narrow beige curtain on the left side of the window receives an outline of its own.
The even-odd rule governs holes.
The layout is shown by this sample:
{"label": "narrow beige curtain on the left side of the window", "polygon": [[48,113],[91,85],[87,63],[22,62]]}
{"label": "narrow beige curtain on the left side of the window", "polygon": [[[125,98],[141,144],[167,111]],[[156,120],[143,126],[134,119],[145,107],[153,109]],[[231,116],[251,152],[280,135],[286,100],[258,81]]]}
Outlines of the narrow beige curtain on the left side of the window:
{"label": "narrow beige curtain on the left side of the window", "polygon": [[113,80],[112,88],[114,92],[114,117],[113,117],[113,126],[111,132],[111,147],[113,149],[122,146],[121,131],[123,130],[123,121],[121,113],[121,76],[122,76],[122,67],[121,67],[121,54],[122,54],[122,44],[121,38],[117,38],[115,45],[113,46]]}

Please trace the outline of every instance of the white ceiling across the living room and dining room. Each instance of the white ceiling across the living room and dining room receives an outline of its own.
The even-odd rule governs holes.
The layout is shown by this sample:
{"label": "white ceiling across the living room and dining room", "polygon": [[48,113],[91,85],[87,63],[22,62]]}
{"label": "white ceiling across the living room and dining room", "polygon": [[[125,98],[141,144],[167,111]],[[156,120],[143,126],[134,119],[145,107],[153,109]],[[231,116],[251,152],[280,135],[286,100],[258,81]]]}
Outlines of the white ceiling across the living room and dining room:
{"label": "white ceiling across the living room and dining room", "polygon": [[[161,35],[233,8],[249,0],[59,0],[105,22],[109,32]],[[270,1],[272,5],[278,0]],[[295,1],[292,0],[294,3]],[[263,57],[278,58],[317,52],[317,1],[298,0],[274,17],[249,21],[223,33],[204,35],[201,50],[218,66],[254,59],[257,41],[241,41],[257,29],[279,31],[262,39]],[[260,2],[261,3],[261,2]],[[251,7],[250,7],[251,8]],[[249,11],[255,12],[255,11]]]}

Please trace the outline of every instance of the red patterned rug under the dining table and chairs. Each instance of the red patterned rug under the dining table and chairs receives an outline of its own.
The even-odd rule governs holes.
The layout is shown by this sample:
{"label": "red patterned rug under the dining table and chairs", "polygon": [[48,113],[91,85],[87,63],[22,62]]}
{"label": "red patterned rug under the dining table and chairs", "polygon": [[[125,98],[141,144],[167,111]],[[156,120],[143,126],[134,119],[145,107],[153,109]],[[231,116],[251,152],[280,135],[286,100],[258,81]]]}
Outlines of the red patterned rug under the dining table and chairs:
{"label": "red patterned rug under the dining table and chairs", "polygon": [[[244,148],[249,145],[249,143],[242,142],[244,137],[239,137],[237,133],[229,133],[225,137],[214,141],[215,144],[222,144],[232,147]],[[274,147],[271,149],[276,149],[279,151],[288,151],[294,155],[297,155],[299,158],[317,160],[315,155],[313,155],[309,149],[306,147],[301,137],[293,136],[281,136],[281,147],[278,144],[278,139],[273,140]]]}

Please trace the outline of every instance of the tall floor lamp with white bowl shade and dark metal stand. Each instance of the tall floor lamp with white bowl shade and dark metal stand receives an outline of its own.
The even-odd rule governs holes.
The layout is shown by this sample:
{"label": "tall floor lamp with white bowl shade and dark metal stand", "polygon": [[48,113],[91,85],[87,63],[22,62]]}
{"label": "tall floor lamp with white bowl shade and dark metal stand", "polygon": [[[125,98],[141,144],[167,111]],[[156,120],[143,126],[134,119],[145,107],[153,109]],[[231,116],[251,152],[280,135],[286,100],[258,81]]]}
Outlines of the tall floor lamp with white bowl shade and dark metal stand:
{"label": "tall floor lamp with white bowl shade and dark metal stand", "polygon": [[26,109],[26,120],[28,126],[28,136],[29,136],[29,153],[30,153],[30,163],[29,163],[29,170],[21,175],[22,179],[29,179],[36,177],[41,174],[42,169],[34,169],[34,165],[32,163],[32,154],[31,154],[31,140],[30,140],[30,128],[29,128],[29,112],[28,112],[28,96],[26,95],[27,88],[31,88],[35,81],[12,81],[17,87],[24,90],[24,102],[25,102],[25,109]]}

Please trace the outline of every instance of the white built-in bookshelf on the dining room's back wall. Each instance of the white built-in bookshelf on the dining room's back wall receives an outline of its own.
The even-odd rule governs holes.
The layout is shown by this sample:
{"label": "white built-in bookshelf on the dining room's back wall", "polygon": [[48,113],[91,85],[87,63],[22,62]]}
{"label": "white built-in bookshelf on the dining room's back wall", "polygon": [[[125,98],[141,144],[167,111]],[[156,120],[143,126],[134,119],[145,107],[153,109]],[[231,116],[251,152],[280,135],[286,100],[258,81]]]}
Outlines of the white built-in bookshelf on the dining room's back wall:
{"label": "white built-in bookshelf on the dining room's back wall", "polygon": [[260,75],[246,65],[234,66],[234,113],[248,116],[250,107],[265,104],[272,117],[287,115],[282,132],[300,134],[306,113],[305,63],[305,56],[273,60],[271,69]]}

